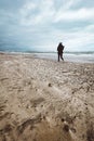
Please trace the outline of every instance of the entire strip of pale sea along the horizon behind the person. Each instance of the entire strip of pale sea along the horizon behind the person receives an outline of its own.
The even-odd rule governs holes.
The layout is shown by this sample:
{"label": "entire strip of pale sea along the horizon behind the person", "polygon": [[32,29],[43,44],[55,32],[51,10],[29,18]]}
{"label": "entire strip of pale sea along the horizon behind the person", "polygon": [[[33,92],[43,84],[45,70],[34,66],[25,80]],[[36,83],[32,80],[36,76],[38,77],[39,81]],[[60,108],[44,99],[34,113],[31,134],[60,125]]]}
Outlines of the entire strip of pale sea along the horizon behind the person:
{"label": "entire strip of pale sea along the horizon behind the person", "polygon": [[[0,51],[11,54],[29,54],[39,59],[57,61],[57,52],[40,52],[40,51]],[[64,52],[65,62],[94,63],[94,51],[84,52]]]}

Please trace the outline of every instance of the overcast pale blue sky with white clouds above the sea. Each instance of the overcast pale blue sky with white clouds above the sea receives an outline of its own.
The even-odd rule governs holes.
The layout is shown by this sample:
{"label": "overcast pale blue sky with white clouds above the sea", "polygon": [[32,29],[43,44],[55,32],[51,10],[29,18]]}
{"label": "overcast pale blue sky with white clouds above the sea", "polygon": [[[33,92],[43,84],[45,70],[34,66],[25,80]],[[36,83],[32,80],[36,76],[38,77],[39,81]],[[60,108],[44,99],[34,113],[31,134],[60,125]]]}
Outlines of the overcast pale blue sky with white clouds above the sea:
{"label": "overcast pale blue sky with white clouds above the sea", "polygon": [[94,51],[94,0],[0,0],[0,48]]}

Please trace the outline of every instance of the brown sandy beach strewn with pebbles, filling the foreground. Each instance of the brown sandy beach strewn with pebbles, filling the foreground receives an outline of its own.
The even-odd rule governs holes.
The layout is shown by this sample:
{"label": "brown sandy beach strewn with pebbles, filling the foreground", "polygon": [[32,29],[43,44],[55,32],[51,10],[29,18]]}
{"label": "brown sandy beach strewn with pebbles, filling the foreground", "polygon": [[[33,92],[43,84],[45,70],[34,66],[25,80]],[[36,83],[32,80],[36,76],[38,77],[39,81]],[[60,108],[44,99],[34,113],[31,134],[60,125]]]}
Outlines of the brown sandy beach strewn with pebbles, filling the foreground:
{"label": "brown sandy beach strewn with pebbles, filling the foreground", "polygon": [[94,141],[94,64],[1,53],[0,141]]}

